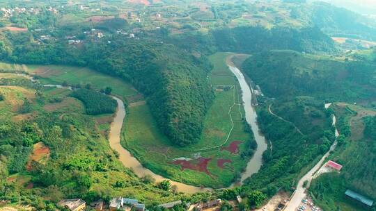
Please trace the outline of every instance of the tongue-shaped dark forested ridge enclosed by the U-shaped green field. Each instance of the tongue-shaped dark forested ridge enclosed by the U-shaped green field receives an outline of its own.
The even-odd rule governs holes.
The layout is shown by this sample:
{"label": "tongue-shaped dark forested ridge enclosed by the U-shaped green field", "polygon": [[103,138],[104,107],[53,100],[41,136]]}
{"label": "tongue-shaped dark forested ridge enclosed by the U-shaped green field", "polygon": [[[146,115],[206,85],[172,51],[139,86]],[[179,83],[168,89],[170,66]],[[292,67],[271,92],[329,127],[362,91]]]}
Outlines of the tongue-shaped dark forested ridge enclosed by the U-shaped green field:
{"label": "tongue-shaped dark forested ridge enclosed by the U-shaped green field", "polygon": [[148,40],[113,37],[111,44],[89,42],[77,49],[61,42],[40,46],[22,38],[25,35],[8,35],[12,50],[3,58],[26,64],[87,65],[120,76],[148,96],[153,115],[173,143],[186,146],[200,137],[212,101],[205,80],[211,66],[205,58]]}

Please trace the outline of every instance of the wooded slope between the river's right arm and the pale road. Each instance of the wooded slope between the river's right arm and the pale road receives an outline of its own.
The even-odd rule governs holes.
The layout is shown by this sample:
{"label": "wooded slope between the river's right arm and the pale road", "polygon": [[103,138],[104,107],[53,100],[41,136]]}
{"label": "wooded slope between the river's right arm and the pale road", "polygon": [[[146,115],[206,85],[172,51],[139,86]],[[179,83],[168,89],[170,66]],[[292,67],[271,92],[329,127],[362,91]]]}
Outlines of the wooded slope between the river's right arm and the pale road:
{"label": "wooded slope between the river's right arm and the pale road", "polygon": [[269,112],[268,105],[259,106],[257,112],[260,129],[270,143],[263,166],[246,179],[244,188],[260,189],[270,197],[281,189],[292,192],[299,177],[334,142],[330,115],[323,101],[311,97],[275,101],[272,112],[278,117]]}

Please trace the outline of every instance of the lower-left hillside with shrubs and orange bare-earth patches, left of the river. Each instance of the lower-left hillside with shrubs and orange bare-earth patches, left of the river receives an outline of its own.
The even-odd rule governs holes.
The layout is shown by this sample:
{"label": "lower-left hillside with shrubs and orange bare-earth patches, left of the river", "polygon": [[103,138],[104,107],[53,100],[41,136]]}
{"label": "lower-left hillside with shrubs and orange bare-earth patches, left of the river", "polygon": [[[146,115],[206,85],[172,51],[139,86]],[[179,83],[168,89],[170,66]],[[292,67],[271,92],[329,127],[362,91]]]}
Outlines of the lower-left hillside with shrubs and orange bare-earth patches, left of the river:
{"label": "lower-left hillside with shrubs and orange bare-earth patches, left of the river", "polygon": [[90,203],[122,195],[149,206],[181,199],[123,167],[100,133],[101,124],[69,97],[70,90],[12,80],[19,82],[0,86],[1,200],[56,210],[56,202],[77,197]]}

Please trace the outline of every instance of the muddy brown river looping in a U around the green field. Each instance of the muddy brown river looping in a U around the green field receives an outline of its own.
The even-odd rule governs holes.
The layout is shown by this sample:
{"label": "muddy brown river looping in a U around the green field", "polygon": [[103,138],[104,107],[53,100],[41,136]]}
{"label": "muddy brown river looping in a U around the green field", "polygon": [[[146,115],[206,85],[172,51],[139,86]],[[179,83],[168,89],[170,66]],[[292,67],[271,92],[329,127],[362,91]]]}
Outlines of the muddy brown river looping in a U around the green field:
{"label": "muddy brown river looping in a U around the green field", "polygon": [[[253,108],[253,105],[251,105],[251,99],[252,99],[251,87],[249,87],[248,83],[246,83],[246,80],[242,72],[239,69],[237,69],[237,67],[234,67],[233,65],[228,64],[228,68],[230,69],[230,71],[233,72],[233,74],[236,76],[237,80],[240,83],[240,87],[242,89],[242,100],[243,100],[243,106],[244,106],[245,115],[246,115],[246,121],[251,126],[253,135],[258,144],[256,152],[253,154],[253,157],[251,158],[251,160],[249,160],[249,162],[247,163],[245,171],[241,174],[240,184],[234,183],[233,185],[231,185],[231,187],[233,187],[235,185],[241,185],[246,178],[258,172],[261,165],[263,164],[262,155],[263,155],[263,152],[267,149],[267,142],[265,141],[265,137],[263,137],[263,135],[260,133],[260,130],[257,125],[256,110]],[[31,81],[36,81],[35,79],[33,79],[33,77],[26,75],[26,74],[17,74],[17,75],[29,78]],[[43,85],[43,86],[58,87],[58,88],[65,88],[68,90],[72,90],[72,87],[62,86],[62,85]],[[150,175],[153,178],[155,178],[156,182],[160,182],[162,180],[169,180],[143,167],[142,164],[139,162],[139,160],[137,160],[136,158],[132,156],[130,151],[127,151],[127,149],[121,146],[120,137],[121,137],[121,129],[123,127],[123,123],[125,119],[125,107],[124,107],[123,101],[121,101],[118,97],[116,96],[111,96],[111,97],[117,101],[118,108],[117,108],[115,117],[110,127],[109,144],[111,146],[111,149],[119,153],[120,162],[122,162],[125,167],[133,169],[134,174],[136,174],[139,177]],[[170,180],[170,182],[171,182],[171,185],[176,185],[176,187],[178,187],[178,191],[180,192],[195,193],[195,192],[205,192],[205,191],[212,190],[211,188],[196,187],[193,185],[178,183],[172,180]]]}

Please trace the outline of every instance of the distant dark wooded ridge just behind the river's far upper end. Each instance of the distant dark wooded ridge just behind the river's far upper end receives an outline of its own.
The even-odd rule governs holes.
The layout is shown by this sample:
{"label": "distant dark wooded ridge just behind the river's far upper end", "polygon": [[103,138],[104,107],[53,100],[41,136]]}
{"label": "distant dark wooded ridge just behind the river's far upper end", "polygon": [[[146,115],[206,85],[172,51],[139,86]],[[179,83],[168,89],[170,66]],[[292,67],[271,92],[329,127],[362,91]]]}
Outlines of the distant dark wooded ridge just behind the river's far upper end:
{"label": "distant dark wooded ridge just behind the river's far upper end", "polygon": [[253,53],[272,49],[292,49],[316,52],[336,51],[334,42],[319,28],[236,27],[216,29],[212,32],[220,51]]}

